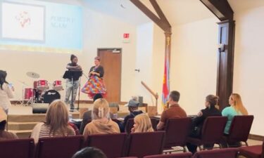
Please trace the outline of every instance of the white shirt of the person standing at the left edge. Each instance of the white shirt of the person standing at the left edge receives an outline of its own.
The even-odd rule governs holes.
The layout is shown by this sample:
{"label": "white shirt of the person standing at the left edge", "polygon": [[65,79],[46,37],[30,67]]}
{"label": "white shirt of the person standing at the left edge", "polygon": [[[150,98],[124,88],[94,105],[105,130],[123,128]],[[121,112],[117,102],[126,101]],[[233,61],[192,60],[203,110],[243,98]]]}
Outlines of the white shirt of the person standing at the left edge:
{"label": "white shirt of the person standing at the left edge", "polygon": [[0,107],[2,107],[4,110],[7,110],[8,107],[11,105],[10,98],[13,98],[13,91],[8,86],[8,84],[3,84],[3,89],[0,87]]}

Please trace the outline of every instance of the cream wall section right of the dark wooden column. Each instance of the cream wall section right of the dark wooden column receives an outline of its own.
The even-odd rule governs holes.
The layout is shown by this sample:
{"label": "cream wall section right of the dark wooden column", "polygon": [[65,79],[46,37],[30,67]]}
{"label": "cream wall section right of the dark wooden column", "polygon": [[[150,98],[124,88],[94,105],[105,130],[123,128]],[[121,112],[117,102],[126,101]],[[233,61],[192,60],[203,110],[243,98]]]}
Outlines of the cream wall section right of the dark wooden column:
{"label": "cream wall section right of the dark wooden column", "polygon": [[233,92],[254,115],[251,133],[263,136],[264,115],[261,98],[264,94],[264,7],[252,8],[234,14],[236,37],[234,46]]}

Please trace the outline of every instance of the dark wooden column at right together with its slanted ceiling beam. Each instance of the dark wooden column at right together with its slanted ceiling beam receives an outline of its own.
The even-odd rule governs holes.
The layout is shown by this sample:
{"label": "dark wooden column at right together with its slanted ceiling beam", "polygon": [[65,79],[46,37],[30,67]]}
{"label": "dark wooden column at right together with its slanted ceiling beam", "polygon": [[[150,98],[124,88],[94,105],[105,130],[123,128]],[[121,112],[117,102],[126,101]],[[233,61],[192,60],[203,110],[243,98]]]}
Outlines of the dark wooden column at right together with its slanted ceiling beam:
{"label": "dark wooden column at right together with its slanted ceiling beam", "polygon": [[233,88],[234,11],[227,0],[200,0],[221,22],[218,22],[218,77],[216,95],[220,110],[228,105]]}

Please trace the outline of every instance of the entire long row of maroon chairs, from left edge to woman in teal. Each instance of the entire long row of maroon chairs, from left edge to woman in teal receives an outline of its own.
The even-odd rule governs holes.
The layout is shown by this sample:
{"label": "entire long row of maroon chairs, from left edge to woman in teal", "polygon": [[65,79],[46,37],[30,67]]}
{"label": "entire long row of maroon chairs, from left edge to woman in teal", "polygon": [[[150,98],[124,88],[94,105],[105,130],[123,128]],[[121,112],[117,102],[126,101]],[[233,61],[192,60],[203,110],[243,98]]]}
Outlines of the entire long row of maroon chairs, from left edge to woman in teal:
{"label": "entire long row of maroon chairs, from left edge to woman in teal", "polygon": [[[227,139],[246,142],[250,131],[249,123],[252,124],[250,120],[253,121],[253,116],[234,117],[231,129],[237,130],[234,130],[234,136],[230,133]],[[108,158],[142,158],[146,155],[162,154],[166,147],[185,146],[191,141],[197,145],[220,144],[226,121],[226,117],[208,117],[204,122],[201,138],[188,138],[191,119],[182,118],[169,119],[165,131],[130,135],[127,133],[92,135],[88,136],[85,142],[83,136],[40,138],[36,146],[32,139],[4,140],[0,142],[1,157],[70,158],[82,147],[92,146],[101,149]]]}

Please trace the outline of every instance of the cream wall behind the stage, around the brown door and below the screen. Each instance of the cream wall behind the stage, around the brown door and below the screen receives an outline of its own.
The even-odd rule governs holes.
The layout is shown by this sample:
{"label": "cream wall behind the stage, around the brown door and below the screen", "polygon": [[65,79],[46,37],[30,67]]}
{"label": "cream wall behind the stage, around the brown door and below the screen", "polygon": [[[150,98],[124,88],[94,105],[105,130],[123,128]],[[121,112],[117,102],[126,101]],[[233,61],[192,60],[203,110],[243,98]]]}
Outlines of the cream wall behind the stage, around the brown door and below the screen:
{"label": "cream wall behind the stage, around the brown door and below the screen", "polygon": [[[92,11],[88,6],[78,1],[75,2],[75,5],[84,6],[84,48],[82,54],[77,54],[79,59],[78,63],[82,66],[84,72],[88,73],[89,67],[94,64],[97,48],[122,48],[121,100],[128,100],[135,91],[134,68],[136,60],[137,27],[121,22],[111,16]],[[130,44],[122,43],[123,33],[130,33]],[[1,70],[6,70],[8,72],[7,80],[15,86],[14,100],[22,98],[23,84],[20,82],[23,81],[28,86],[32,86],[33,84],[33,79],[27,77],[26,72],[37,72],[40,74],[41,79],[46,79],[50,82],[57,79],[63,80],[61,76],[65,71],[65,66],[70,62],[70,54],[63,53],[1,50],[0,58]],[[86,81],[87,79],[82,77],[81,86],[83,86]],[[130,91],[127,91],[127,89]],[[64,93],[64,91],[61,92],[63,98]],[[80,100],[88,100],[87,95],[81,93]]]}

